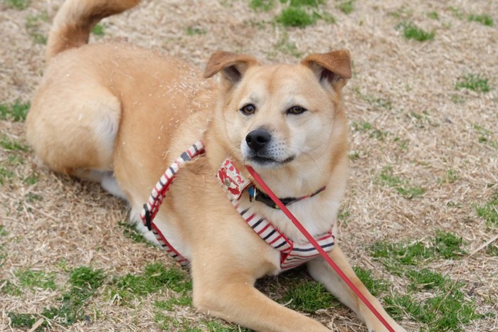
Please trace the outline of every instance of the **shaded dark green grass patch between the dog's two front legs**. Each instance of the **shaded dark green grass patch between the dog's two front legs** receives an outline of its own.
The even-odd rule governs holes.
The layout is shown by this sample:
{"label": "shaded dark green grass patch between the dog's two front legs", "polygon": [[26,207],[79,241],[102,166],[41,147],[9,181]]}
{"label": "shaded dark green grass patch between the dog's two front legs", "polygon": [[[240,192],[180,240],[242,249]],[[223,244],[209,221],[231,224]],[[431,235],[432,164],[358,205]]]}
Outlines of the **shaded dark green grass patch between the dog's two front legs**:
{"label": "shaded dark green grass patch between the dog's two front legs", "polygon": [[290,285],[285,296],[280,299],[280,303],[288,303],[288,307],[307,313],[329,308],[334,301],[334,296],[322,284],[312,280]]}

